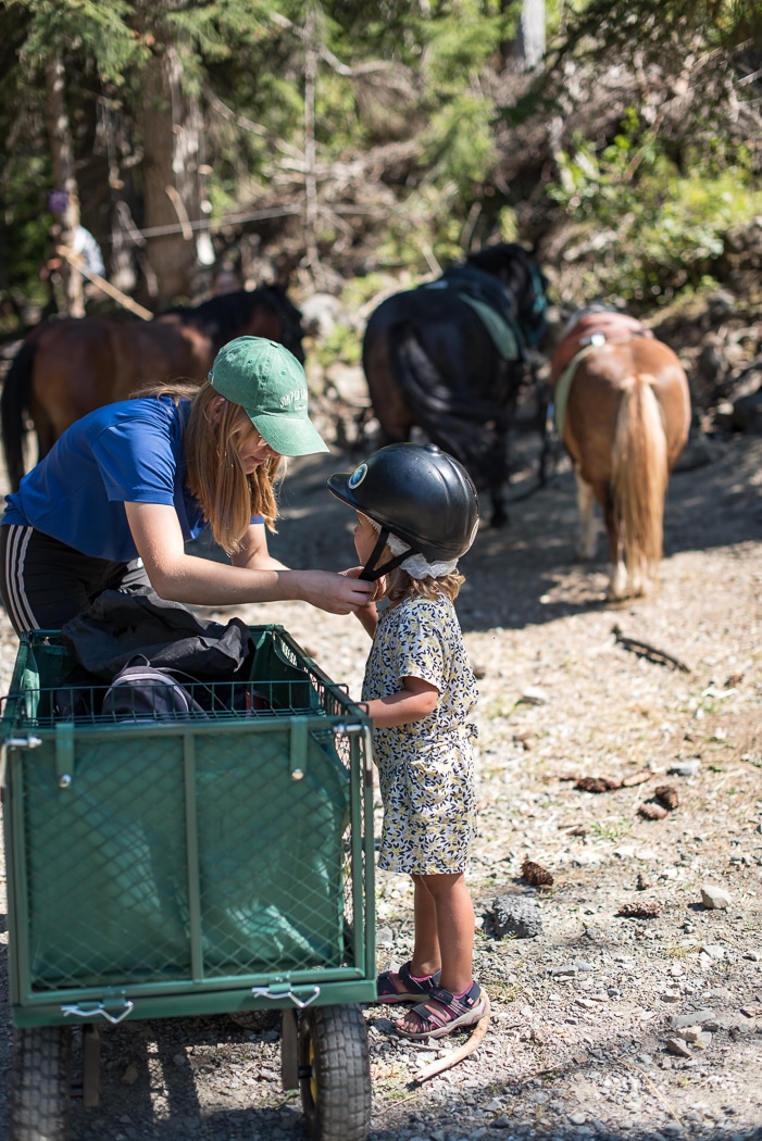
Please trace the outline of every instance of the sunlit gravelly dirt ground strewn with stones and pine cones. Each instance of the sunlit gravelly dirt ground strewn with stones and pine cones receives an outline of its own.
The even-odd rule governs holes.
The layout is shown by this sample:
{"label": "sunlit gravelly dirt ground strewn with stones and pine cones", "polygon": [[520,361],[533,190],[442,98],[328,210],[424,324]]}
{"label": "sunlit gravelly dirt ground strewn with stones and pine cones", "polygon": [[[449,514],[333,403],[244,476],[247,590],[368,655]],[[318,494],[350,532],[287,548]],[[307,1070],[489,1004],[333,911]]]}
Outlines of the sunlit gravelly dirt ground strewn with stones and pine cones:
{"label": "sunlit gravelly dirt ground strewn with stones and pine cones", "polygon": [[[533,446],[521,442],[511,524],[479,534],[457,601],[480,690],[470,884],[492,1021],[476,1054],[413,1087],[451,1043],[411,1045],[390,1010],[368,1009],[370,1138],[762,1138],[762,437],[691,443],[670,487],[662,588],[616,606],[603,600],[602,539],[600,561],[573,561],[568,466],[530,494]],[[354,563],[349,512],[324,486],[354,462],[293,463],[274,553],[292,566]],[[237,613],[282,623],[359,695],[367,638],[355,620],[301,604]],[[3,615],[0,647],[6,693],[15,640]],[[585,792],[582,776],[624,784]],[[643,818],[639,806],[665,784],[678,807]],[[552,887],[526,883],[526,858]],[[728,907],[704,905],[711,887]],[[501,937],[498,898],[528,905],[536,933]],[[643,904],[657,914],[619,914]],[[379,875],[376,907],[383,969],[411,949],[404,877]],[[102,1103],[74,1102],[72,1141],[301,1138],[276,1039],[225,1018],[108,1029]]]}

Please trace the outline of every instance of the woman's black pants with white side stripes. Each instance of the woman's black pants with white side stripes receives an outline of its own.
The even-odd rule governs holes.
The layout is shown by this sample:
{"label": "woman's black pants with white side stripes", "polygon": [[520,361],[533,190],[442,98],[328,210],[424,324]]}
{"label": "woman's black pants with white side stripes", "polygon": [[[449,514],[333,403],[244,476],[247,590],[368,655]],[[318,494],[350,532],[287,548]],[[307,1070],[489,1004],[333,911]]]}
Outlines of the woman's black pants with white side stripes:
{"label": "woman's black pants with white side stripes", "polygon": [[17,634],[60,630],[104,590],[147,585],[139,559],[111,563],[82,555],[34,527],[0,527],[0,596]]}

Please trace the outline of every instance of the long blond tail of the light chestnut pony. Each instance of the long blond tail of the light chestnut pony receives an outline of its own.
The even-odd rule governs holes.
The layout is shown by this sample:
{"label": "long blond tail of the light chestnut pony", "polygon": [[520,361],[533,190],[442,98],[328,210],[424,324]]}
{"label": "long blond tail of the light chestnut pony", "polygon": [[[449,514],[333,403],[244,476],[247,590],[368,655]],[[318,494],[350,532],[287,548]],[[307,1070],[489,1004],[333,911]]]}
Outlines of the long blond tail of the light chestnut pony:
{"label": "long blond tail of the light chestnut pony", "polygon": [[627,573],[646,583],[662,558],[667,440],[652,377],[632,377],[619,404],[611,453],[611,491],[624,536]]}

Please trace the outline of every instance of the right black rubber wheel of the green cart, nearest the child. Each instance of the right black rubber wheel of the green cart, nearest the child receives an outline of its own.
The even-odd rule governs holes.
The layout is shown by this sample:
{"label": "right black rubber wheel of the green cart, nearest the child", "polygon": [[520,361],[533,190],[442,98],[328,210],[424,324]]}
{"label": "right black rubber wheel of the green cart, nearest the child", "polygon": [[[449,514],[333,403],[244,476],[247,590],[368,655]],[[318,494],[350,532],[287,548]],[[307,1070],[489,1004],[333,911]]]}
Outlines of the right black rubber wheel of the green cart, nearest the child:
{"label": "right black rubber wheel of the green cart, nearest the child", "polygon": [[299,1022],[299,1089],[311,1141],[365,1141],[371,1063],[359,1006],[316,1006]]}

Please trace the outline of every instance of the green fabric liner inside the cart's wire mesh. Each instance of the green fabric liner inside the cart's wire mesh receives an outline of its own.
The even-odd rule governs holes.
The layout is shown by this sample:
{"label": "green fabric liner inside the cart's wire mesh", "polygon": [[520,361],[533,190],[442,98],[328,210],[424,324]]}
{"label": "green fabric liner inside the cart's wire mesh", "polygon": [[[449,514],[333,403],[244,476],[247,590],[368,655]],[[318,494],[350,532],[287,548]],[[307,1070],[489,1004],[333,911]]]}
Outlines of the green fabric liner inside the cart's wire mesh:
{"label": "green fabric liner inside the cart's wire mesh", "polygon": [[[48,659],[48,649],[51,656]],[[56,661],[52,662],[55,655]],[[58,647],[26,663],[30,694],[68,669]],[[38,672],[39,671],[39,672]],[[319,694],[267,633],[258,683]],[[293,687],[292,687],[293,689]],[[274,690],[276,691],[276,690]],[[47,694],[41,694],[44,702]],[[251,733],[195,735],[198,936],[208,979],[346,961],[343,833],[349,774],[326,731],[292,756],[291,718]],[[184,737],[74,729],[74,776],[58,786],[54,734],[24,753],[29,958],[34,990],[183,980],[190,974]],[[193,730],[192,730],[193,731]],[[303,778],[291,776],[294,762]]]}

